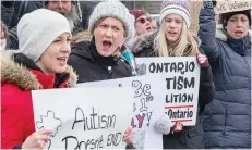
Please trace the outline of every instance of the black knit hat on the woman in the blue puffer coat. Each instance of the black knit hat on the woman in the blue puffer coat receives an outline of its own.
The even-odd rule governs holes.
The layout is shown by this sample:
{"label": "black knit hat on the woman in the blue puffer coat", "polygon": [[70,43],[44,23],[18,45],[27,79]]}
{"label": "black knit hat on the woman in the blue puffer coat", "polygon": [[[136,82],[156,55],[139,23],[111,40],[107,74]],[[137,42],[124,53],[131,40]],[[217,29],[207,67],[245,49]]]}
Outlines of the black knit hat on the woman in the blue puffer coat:
{"label": "black knit hat on the woman in the blue puffer coat", "polygon": [[221,20],[223,20],[223,25],[224,27],[227,26],[228,20],[236,14],[244,14],[247,15],[249,22],[250,22],[250,26],[251,26],[251,10],[244,10],[244,11],[238,11],[238,12],[229,12],[229,13],[224,13],[221,14]]}

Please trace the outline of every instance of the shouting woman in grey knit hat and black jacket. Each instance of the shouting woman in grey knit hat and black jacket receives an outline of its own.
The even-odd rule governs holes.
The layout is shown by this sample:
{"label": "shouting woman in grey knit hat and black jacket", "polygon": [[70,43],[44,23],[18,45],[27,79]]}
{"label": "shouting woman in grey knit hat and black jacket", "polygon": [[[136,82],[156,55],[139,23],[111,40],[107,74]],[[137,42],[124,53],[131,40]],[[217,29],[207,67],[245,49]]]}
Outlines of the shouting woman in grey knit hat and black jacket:
{"label": "shouting woman in grey knit hat and black jacket", "polygon": [[[76,71],[79,83],[132,76],[131,66],[121,59],[121,52],[125,48],[123,43],[133,35],[133,22],[134,17],[119,1],[103,1],[95,7],[88,24],[93,38],[73,45],[68,61]],[[132,127],[124,137],[124,141],[131,143]]]}

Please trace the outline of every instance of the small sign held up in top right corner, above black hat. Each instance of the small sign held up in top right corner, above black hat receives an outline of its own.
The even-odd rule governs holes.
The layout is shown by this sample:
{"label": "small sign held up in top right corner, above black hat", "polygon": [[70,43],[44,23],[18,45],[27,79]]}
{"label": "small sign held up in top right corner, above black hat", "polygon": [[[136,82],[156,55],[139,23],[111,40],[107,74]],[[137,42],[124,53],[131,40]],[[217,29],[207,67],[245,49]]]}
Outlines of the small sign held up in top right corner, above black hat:
{"label": "small sign held up in top right corner, above black hat", "polygon": [[216,14],[249,10],[252,8],[251,0],[217,0]]}

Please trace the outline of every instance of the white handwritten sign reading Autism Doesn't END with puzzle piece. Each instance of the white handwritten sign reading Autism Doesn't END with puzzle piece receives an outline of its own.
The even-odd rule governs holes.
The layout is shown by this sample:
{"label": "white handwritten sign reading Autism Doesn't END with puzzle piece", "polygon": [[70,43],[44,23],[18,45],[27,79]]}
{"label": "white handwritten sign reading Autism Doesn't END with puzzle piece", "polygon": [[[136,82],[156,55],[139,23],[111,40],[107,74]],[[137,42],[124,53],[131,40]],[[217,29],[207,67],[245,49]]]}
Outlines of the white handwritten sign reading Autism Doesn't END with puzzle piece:
{"label": "white handwritten sign reading Autism Doesn't END with puzzle piece", "polygon": [[36,129],[52,128],[47,149],[124,149],[131,124],[130,88],[32,91]]}

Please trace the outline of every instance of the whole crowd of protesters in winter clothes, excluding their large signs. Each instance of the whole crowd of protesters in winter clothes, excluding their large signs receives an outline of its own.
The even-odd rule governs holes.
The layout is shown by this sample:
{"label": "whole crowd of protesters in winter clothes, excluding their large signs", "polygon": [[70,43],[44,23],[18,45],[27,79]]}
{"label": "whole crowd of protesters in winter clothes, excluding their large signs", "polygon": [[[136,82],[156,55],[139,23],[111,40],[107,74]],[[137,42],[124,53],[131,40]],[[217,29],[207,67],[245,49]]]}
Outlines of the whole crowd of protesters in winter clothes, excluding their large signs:
{"label": "whole crowd of protesters in winter clothes, excluding their large signs", "polygon": [[[131,77],[135,58],[195,57],[196,124],[177,122],[164,149],[251,148],[251,10],[220,14],[204,1],[160,1],[159,23],[118,0],[1,1],[1,148],[44,149],[50,129],[35,130],[32,90]],[[189,28],[199,17],[199,33]],[[127,51],[129,52],[129,51]],[[169,58],[168,58],[169,59]],[[135,149],[129,126],[123,141]]]}

